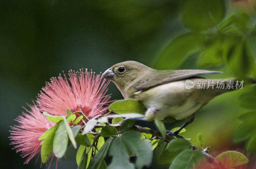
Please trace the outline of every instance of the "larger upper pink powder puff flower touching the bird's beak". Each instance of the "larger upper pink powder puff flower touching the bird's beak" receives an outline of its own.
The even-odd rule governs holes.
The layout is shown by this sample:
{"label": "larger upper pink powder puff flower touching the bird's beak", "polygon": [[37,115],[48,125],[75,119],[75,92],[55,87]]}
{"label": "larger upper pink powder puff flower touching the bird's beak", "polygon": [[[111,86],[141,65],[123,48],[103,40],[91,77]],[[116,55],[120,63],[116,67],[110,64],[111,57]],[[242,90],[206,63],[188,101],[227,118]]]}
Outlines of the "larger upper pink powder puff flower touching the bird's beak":
{"label": "larger upper pink powder puff flower touching the bird's beak", "polygon": [[[64,73],[63,73],[64,74]],[[108,109],[109,95],[106,95],[109,81],[102,80],[100,74],[80,69],[79,72],[68,71],[69,78],[52,77],[51,82],[46,82],[43,91],[38,94],[37,103],[40,111],[46,111],[52,116],[66,116],[66,110],[71,112],[82,111],[91,119],[97,115],[103,115]],[[71,84],[71,86],[70,86]],[[76,117],[80,114],[76,114]],[[84,123],[83,122],[80,122]]]}

